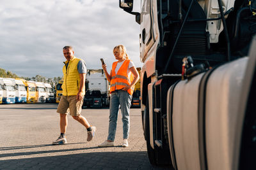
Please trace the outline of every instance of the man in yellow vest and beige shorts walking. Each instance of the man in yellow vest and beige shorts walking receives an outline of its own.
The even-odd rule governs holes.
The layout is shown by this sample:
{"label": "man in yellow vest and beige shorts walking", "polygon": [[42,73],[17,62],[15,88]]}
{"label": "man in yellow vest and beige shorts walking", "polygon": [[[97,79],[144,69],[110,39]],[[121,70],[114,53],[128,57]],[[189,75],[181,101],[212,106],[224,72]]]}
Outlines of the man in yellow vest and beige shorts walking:
{"label": "man in yellow vest and beige shorts walking", "polygon": [[63,89],[57,113],[60,113],[60,137],[52,142],[52,145],[67,143],[65,136],[67,129],[67,114],[84,125],[87,129],[87,141],[91,141],[95,136],[96,127],[91,126],[86,118],[81,116],[83,97],[85,94],[86,64],[84,60],[74,56],[72,46],[63,47],[63,55],[67,59],[63,66],[64,81],[61,86]]}

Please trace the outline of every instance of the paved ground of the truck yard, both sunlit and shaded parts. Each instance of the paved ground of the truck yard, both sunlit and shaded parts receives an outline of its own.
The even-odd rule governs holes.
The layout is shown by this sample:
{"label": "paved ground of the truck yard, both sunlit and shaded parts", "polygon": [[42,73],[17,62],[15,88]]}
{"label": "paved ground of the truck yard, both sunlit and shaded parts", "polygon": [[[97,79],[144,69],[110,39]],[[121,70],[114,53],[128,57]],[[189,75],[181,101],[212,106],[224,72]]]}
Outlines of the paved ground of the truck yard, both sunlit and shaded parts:
{"label": "paved ground of the truck yard, both sunlit and shaded parts", "polygon": [[118,115],[115,146],[99,148],[108,135],[108,108],[83,109],[97,127],[87,142],[83,125],[68,116],[67,145],[52,145],[60,135],[57,104],[0,105],[0,169],[168,169],[152,167],[143,137],[140,109],[131,109],[129,147],[123,148]]}

